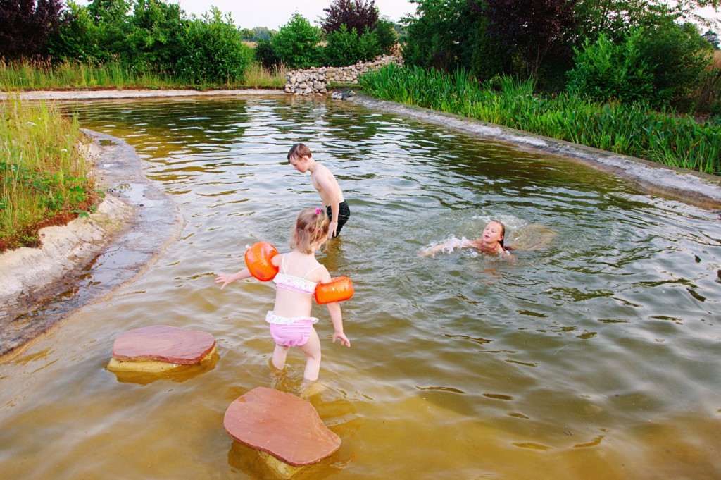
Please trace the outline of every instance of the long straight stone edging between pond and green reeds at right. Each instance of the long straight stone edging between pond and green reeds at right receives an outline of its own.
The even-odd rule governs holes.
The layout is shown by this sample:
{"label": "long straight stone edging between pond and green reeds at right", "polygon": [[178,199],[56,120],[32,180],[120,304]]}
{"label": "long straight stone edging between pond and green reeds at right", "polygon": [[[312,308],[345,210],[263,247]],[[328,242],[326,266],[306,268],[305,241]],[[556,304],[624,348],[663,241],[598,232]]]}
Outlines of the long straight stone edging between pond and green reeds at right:
{"label": "long straight stone edging between pond and green reeds at right", "polygon": [[629,180],[647,193],[678,199],[704,209],[721,209],[721,178],[715,175],[668,167],[637,157],[627,157],[584,145],[551,139],[547,136],[528,134],[513,128],[450,113],[376,100],[368,95],[344,96],[343,98],[357,105],[435,123],[466,134],[510,144],[516,148],[579,160],[585,165],[614,173]]}

